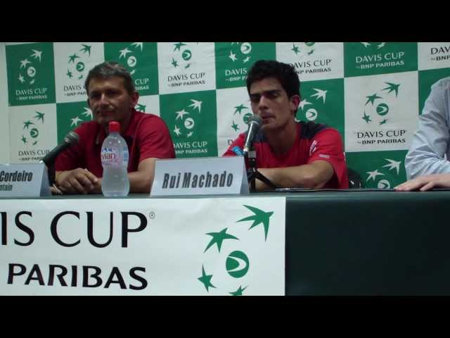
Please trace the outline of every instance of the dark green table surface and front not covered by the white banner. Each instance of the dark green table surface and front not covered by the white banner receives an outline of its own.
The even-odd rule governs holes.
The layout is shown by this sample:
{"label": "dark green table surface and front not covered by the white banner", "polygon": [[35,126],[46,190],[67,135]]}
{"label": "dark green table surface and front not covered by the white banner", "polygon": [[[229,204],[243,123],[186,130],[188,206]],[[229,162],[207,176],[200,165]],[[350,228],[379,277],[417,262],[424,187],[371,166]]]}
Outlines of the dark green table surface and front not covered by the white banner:
{"label": "dark green table surface and front not covered by the white banner", "polygon": [[[450,294],[450,190],[304,190],[242,198],[255,196],[285,197],[286,295]],[[136,198],[150,196],[128,196]]]}

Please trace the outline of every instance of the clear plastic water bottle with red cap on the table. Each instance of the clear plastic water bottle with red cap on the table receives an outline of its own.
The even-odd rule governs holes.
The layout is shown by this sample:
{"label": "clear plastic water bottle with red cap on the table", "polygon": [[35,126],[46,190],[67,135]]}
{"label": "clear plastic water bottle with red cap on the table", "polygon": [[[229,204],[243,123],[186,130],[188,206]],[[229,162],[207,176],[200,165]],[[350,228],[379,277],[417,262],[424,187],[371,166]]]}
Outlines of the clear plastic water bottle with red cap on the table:
{"label": "clear plastic water bottle with red cap on the table", "polygon": [[103,196],[127,196],[129,193],[128,146],[120,136],[120,123],[109,124],[110,133],[101,146],[101,165],[103,177],[101,192]]}

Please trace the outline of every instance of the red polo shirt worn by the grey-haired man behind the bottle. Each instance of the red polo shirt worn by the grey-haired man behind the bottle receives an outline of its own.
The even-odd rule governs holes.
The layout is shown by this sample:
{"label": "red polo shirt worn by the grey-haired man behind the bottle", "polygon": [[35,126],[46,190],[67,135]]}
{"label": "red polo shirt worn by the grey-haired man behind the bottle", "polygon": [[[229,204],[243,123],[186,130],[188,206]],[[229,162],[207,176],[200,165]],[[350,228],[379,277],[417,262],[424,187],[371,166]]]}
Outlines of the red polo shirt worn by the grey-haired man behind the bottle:
{"label": "red polo shirt worn by the grey-haired man behind the bottle", "polygon": [[[103,176],[101,146],[106,138],[103,127],[96,121],[82,123],[74,130],[79,142],[65,149],[56,158],[58,171],[86,168],[97,177]],[[164,120],[157,115],[133,109],[127,130],[122,134],[128,145],[128,172],[138,169],[146,158],[175,158],[174,145]]]}

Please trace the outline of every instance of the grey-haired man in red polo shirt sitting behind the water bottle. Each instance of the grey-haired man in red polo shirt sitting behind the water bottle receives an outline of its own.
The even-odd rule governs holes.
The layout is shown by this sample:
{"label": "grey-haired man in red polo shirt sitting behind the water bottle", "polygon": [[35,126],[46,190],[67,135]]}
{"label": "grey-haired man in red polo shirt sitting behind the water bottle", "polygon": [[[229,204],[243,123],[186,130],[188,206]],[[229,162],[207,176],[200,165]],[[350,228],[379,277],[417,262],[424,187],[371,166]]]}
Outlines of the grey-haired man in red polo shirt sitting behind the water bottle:
{"label": "grey-haired man in red polo shirt sitting behind the water bottle", "polygon": [[131,75],[119,63],[105,62],[89,71],[84,82],[94,120],[75,129],[79,142],[56,159],[56,187],[65,194],[101,193],[101,146],[110,121],[120,123],[129,150],[130,192],[150,192],[157,158],[174,158],[165,122],[136,111],[139,93]]}

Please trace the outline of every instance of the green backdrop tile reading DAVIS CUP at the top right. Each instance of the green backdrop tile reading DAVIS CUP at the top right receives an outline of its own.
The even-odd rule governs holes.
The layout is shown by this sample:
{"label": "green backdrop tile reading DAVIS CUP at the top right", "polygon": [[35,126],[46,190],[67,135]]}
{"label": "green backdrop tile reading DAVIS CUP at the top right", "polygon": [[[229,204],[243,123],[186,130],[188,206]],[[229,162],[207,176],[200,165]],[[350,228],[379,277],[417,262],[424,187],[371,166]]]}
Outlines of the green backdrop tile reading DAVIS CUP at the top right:
{"label": "green backdrop tile reading DAVIS CUP at the top right", "polygon": [[416,42],[345,42],[345,76],[417,70]]}

